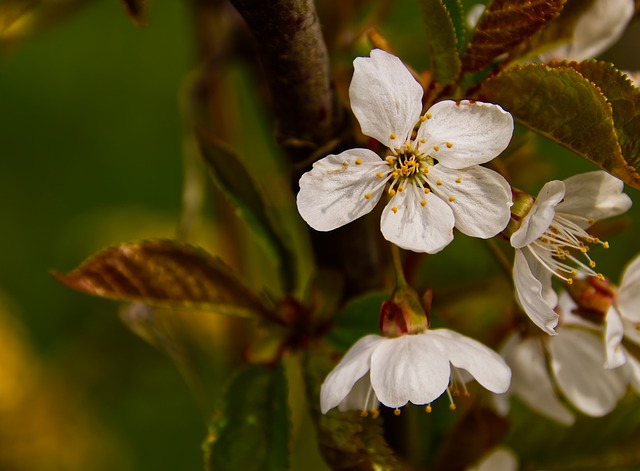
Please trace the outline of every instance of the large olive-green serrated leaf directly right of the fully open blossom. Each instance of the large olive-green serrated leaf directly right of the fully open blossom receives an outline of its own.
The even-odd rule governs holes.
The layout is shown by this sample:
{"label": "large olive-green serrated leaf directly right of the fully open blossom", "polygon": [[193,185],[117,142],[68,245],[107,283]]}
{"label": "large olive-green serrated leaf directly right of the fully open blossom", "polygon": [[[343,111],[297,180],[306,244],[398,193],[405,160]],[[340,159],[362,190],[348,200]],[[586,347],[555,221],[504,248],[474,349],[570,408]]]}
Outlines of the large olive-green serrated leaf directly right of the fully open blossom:
{"label": "large olive-green serrated leaf directly right of the fully open blossom", "polygon": [[502,105],[529,129],[638,187],[622,157],[611,104],[570,67],[530,64],[485,82],[483,100]]}

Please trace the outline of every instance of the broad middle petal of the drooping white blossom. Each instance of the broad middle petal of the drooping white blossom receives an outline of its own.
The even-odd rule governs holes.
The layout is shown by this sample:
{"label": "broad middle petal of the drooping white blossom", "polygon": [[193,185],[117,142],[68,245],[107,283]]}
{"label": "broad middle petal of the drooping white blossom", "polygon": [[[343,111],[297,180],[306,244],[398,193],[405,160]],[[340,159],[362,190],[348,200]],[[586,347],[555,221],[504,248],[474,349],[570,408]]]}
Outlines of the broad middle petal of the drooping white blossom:
{"label": "broad middle petal of the drooping white blossom", "polygon": [[449,385],[449,359],[428,333],[381,343],[371,357],[371,384],[387,407],[428,404]]}

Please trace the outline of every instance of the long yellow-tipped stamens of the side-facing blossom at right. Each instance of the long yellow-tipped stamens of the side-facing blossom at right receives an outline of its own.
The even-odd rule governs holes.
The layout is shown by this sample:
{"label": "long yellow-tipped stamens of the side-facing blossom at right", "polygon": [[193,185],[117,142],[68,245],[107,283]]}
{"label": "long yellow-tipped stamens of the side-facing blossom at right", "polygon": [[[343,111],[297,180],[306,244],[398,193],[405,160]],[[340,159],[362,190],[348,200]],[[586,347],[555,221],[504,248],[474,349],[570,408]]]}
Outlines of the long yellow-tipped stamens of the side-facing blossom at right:
{"label": "long yellow-tipped stamens of the side-facing blossom at right", "polygon": [[544,234],[529,245],[531,253],[549,271],[568,284],[572,284],[573,277],[578,275],[595,276],[604,280],[601,273],[593,270],[596,262],[588,252],[592,244],[600,244],[608,249],[609,243],[593,237],[576,221],[590,224],[595,222],[572,214],[556,213]]}

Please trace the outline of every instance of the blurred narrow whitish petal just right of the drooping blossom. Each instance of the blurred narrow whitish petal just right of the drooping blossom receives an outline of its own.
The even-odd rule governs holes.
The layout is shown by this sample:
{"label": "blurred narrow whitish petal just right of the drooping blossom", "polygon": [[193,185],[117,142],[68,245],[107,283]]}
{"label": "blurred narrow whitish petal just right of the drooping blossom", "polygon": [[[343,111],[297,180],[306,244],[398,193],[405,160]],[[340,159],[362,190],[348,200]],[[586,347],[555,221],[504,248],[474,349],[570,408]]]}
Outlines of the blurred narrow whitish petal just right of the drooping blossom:
{"label": "blurred narrow whitish petal just right of the drooping blossom", "polygon": [[531,409],[564,425],[572,425],[574,415],[556,397],[547,369],[544,349],[539,338],[527,338],[502,354],[511,367],[511,391]]}

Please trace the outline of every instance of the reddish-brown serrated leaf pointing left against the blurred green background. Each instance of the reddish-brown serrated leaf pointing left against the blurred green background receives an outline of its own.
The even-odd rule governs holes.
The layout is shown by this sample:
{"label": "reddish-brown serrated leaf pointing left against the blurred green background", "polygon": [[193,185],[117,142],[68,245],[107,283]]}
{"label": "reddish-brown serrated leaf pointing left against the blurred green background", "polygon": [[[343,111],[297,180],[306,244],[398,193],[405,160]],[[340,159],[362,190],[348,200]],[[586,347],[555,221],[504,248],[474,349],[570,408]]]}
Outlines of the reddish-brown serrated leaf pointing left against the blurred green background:
{"label": "reddish-brown serrated leaf pointing left against the blurred green background", "polygon": [[220,259],[170,240],[108,247],[71,273],[54,276],[70,288],[118,301],[246,317],[266,312]]}

